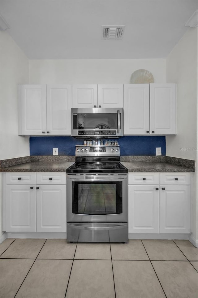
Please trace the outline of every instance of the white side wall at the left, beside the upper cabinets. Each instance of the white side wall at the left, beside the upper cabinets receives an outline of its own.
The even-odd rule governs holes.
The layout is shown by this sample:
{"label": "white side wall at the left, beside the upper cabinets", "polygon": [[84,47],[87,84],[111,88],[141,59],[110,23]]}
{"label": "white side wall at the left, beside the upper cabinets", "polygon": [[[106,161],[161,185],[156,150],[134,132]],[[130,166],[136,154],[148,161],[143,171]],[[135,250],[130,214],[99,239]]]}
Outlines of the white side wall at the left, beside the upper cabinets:
{"label": "white side wall at the left, beside the upper cabinets", "polygon": [[[6,31],[0,31],[0,160],[28,156],[29,138],[18,136],[17,85],[28,83],[28,59]],[[0,237],[2,235],[0,173]]]}

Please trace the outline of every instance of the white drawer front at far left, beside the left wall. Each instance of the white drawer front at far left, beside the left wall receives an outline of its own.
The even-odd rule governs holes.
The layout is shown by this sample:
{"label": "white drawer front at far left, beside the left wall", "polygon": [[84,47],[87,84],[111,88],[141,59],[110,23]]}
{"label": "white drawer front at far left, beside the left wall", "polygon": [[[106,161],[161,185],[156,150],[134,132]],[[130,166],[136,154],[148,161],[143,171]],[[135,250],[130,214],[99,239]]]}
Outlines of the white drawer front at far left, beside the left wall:
{"label": "white drawer front at far left, beside the left wall", "polygon": [[6,173],[6,184],[36,184],[36,172]]}

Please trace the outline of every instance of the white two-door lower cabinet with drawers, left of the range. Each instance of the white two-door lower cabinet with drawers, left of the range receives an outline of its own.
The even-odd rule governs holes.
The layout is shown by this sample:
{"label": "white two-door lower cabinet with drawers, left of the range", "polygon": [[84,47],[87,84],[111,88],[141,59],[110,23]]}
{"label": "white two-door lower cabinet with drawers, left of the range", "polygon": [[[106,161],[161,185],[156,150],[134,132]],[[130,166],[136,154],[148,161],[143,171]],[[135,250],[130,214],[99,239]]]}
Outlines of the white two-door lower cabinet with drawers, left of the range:
{"label": "white two-door lower cabinet with drawers, left of the range", "polygon": [[[46,184],[23,185],[21,180],[25,174],[27,175],[27,173],[17,174],[20,177],[16,176],[13,184],[11,179],[13,173],[5,173],[3,230],[66,232],[66,173],[42,172],[45,177],[49,176],[44,182]],[[29,175],[29,180],[35,183],[36,173]],[[41,176],[38,172],[37,182],[41,180]],[[55,183],[60,180],[61,184],[53,184],[53,179]]]}

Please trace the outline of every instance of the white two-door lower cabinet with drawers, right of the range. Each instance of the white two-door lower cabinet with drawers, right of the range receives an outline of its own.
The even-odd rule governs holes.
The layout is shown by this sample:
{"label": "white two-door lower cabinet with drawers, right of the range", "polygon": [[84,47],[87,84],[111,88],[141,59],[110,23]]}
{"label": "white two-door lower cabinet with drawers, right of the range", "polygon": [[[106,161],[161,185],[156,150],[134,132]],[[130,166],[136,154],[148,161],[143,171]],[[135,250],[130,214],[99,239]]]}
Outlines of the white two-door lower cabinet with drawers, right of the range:
{"label": "white two-door lower cabinet with drawers, right of the range", "polygon": [[[156,184],[146,185],[147,180]],[[189,234],[190,180],[190,173],[129,173],[129,233]]]}

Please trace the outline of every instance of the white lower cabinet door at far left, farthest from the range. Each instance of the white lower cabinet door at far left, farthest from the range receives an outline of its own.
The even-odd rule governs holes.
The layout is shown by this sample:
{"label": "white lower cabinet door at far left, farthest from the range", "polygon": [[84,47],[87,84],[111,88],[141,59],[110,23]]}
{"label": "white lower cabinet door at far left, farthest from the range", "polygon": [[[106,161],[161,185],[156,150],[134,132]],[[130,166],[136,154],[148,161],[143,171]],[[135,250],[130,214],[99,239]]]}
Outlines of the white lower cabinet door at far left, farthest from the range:
{"label": "white lower cabinet door at far left, farthest from the range", "polygon": [[4,230],[36,232],[36,186],[7,184],[5,194]]}

